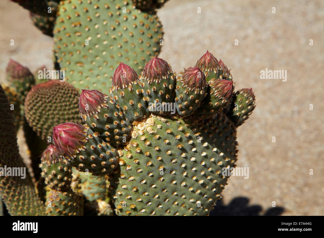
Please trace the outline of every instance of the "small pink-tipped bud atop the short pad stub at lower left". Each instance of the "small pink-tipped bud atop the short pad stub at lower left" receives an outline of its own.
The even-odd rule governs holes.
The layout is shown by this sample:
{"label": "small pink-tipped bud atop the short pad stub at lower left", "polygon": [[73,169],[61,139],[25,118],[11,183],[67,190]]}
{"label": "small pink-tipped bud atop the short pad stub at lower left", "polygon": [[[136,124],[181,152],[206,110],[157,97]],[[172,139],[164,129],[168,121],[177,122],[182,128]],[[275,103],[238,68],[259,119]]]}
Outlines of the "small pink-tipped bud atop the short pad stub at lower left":
{"label": "small pink-tipped bud atop the short pad stub at lower left", "polygon": [[40,168],[45,183],[51,189],[65,191],[70,188],[72,181],[72,166],[62,163],[54,145],[49,145],[41,156]]}

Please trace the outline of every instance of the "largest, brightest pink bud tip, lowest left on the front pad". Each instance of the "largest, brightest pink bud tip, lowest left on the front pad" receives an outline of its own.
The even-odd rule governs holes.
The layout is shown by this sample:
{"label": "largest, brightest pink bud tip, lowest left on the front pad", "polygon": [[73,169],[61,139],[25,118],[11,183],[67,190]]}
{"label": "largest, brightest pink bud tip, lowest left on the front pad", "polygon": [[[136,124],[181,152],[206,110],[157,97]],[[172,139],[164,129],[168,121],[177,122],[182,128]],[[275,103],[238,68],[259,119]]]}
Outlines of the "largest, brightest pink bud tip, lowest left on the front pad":
{"label": "largest, brightest pink bud tip, lowest left on the front pad", "polygon": [[86,141],[86,128],[74,122],[65,122],[53,127],[53,142],[60,155],[76,155]]}

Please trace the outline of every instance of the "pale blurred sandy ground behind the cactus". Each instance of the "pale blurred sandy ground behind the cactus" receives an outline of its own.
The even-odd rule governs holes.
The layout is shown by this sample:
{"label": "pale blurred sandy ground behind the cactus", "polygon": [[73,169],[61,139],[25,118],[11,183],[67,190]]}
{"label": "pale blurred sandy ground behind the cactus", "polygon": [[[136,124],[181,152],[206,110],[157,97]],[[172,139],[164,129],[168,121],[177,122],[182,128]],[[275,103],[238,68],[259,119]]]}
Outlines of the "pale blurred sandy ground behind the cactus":
{"label": "pale blurred sandy ground behind the cactus", "polygon": [[[257,96],[237,131],[237,166],[249,167],[249,178],[230,178],[214,214],[324,215],[324,2],[170,0],[158,16],[160,57],[175,72],[208,49],[232,69],[236,89],[252,87]],[[0,1],[0,32],[0,82],[9,58],[32,71],[52,67],[52,38],[33,27],[26,10]],[[260,79],[266,68],[286,70],[287,81]]]}

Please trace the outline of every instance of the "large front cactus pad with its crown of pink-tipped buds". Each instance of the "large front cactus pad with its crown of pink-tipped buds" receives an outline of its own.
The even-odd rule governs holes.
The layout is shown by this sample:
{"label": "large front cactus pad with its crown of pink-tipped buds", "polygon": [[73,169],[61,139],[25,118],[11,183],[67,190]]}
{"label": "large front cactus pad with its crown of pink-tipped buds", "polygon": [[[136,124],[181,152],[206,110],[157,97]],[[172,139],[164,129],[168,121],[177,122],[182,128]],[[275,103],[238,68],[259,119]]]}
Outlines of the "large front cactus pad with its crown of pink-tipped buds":
{"label": "large front cactus pad with its crown of pink-tipped buds", "polygon": [[[54,145],[72,166],[108,175],[117,215],[208,215],[221,198],[229,177],[223,172],[237,161],[237,126],[251,114],[255,97],[251,89],[234,92],[228,74],[219,74],[226,66],[208,51],[198,62],[178,79],[159,58],[139,78],[131,67],[117,67],[110,107],[132,122],[119,144],[110,144],[119,137],[118,118],[108,120],[108,96],[96,90],[83,90],[86,100],[79,104],[97,117],[54,128]],[[157,109],[158,103],[169,107]]]}

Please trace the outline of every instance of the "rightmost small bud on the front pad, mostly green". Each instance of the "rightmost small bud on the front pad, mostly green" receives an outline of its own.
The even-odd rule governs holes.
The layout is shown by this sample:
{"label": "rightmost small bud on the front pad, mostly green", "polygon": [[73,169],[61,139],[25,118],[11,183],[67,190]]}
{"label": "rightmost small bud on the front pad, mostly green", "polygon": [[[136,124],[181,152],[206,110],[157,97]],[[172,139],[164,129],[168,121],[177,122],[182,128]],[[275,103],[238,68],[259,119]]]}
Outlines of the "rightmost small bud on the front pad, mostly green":
{"label": "rightmost small bud on the front pad, mostly green", "polygon": [[254,104],[255,96],[252,88],[240,89],[233,95],[233,101],[226,115],[234,122],[235,126],[238,127],[249,118],[255,108]]}

